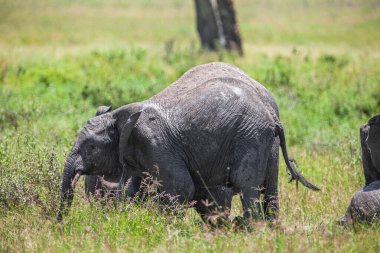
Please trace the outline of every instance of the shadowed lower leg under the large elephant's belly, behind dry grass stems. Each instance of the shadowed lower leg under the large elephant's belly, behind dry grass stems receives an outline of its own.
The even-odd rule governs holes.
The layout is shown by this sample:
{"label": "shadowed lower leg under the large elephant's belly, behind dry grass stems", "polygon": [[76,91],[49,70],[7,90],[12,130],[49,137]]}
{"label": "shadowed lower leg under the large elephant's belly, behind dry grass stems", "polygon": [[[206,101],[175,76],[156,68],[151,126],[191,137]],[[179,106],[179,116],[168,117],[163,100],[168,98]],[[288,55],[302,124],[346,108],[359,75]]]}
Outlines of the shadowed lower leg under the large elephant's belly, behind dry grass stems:
{"label": "shadowed lower leg under the large elephant's belly, behind dry grass stems", "polygon": [[228,221],[232,197],[233,189],[230,187],[201,189],[194,197],[194,207],[205,223],[217,227]]}

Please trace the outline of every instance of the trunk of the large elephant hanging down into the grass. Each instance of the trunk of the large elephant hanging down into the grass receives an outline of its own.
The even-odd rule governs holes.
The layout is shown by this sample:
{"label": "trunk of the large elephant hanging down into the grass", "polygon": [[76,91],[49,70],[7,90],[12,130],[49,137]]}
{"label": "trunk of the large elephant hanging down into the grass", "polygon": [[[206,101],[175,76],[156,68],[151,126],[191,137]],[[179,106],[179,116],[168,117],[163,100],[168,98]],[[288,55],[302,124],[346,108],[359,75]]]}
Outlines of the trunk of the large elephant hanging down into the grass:
{"label": "trunk of the large elephant hanging down into the grass", "polygon": [[70,155],[67,158],[62,174],[62,186],[60,194],[61,204],[57,215],[58,221],[62,220],[63,215],[65,215],[70,208],[74,198],[75,184],[82,174],[81,171],[75,172],[75,168],[76,166],[74,165],[74,159],[72,158],[72,155]]}

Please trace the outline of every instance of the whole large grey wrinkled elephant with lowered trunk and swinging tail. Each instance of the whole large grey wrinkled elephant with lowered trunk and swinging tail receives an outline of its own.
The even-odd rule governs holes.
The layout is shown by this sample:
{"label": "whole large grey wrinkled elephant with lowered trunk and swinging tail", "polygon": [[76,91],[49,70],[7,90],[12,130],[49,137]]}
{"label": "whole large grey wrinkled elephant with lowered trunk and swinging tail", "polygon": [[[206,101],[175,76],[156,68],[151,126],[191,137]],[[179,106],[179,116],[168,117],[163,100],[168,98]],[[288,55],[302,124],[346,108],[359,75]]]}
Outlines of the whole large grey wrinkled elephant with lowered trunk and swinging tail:
{"label": "whole large grey wrinkled elephant with lowered trunk and swinging tail", "polygon": [[[62,176],[58,219],[80,175],[114,174],[160,181],[159,191],[195,200],[203,218],[231,207],[241,193],[244,217],[278,211],[279,146],[293,180],[318,190],[294,168],[272,95],[225,63],[195,67],[152,98],[88,121]],[[257,200],[264,194],[264,214]],[[170,201],[170,198],[163,201]],[[203,203],[217,202],[205,206]]]}

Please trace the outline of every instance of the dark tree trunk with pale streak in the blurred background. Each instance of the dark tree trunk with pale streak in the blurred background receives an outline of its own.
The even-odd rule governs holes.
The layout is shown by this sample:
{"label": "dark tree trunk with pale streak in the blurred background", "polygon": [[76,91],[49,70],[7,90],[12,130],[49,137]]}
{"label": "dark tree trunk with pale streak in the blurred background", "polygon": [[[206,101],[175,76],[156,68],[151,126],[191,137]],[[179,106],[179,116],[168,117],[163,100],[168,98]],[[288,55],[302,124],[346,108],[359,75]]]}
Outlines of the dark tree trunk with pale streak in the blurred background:
{"label": "dark tree trunk with pale streak in the blurred background", "polygon": [[243,48],[232,0],[195,0],[197,30],[202,47],[236,49],[243,55]]}

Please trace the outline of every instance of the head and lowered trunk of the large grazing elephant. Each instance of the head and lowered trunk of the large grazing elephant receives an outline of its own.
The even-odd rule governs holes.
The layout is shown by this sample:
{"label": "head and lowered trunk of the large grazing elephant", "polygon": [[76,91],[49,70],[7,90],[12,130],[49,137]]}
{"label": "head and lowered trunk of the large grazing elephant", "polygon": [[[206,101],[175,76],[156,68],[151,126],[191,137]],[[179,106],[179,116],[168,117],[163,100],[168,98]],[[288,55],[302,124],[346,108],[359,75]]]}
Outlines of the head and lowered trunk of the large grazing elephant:
{"label": "head and lowered trunk of the large grazing elephant", "polygon": [[[125,149],[127,139],[141,112],[133,115],[124,113],[127,119],[124,124],[119,122],[123,117],[120,119],[118,114],[114,115],[110,111],[110,106],[99,107],[96,116],[87,122],[75,141],[64,165],[58,220],[62,219],[71,206],[75,184],[81,175],[121,174],[119,149]],[[123,144],[120,144],[120,140],[123,140]]]}

